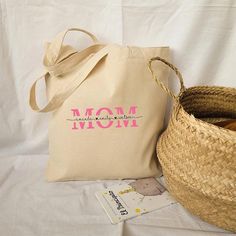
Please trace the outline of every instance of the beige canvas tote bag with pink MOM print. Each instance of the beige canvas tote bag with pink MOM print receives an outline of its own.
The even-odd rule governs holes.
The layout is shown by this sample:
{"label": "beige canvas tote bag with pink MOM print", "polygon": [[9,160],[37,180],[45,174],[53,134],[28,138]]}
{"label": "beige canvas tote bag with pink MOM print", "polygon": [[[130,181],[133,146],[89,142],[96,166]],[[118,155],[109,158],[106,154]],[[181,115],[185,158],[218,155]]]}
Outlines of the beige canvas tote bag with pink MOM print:
{"label": "beige canvas tote bag with pink MOM print", "polygon": [[[69,31],[93,44],[78,52],[64,45]],[[158,176],[155,146],[163,127],[166,94],[148,71],[150,58],[169,60],[168,47],[105,45],[72,28],[47,43],[46,73],[32,85],[30,106],[52,112],[48,181],[125,179]],[[167,83],[168,69],[155,65]],[[39,108],[36,84],[46,82],[48,103]]]}

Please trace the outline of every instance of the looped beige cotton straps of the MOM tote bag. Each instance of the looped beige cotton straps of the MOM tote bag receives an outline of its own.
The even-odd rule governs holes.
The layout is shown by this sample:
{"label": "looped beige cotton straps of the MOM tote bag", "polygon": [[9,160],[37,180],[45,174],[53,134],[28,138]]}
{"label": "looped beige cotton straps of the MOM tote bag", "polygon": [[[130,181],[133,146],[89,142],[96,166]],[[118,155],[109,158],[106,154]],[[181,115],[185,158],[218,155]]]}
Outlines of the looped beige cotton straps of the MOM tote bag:
{"label": "looped beige cotton straps of the MOM tote bag", "polygon": [[[69,31],[84,32],[92,38],[95,44],[81,52],[76,52],[70,46],[63,45],[64,38]],[[50,112],[59,108],[63,102],[87,79],[88,74],[96,67],[99,61],[110,52],[111,47],[112,45],[99,44],[94,35],[82,29],[72,28],[59,33],[52,43],[46,45],[46,53],[43,60],[46,73],[37,79],[30,89],[29,104],[31,108],[38,112]],[[67,86],[58,89],[54,96],[48,101],[48,104],[44,108],[40,109],[36,101],[37,82],[41,79],[46,81],[49,79],[50,75],[61,79],[59,76],[73,70],[78,63],[82,62],[86,58],[87,61],[82,65],[78,74],[76,74],[76,78]]]}

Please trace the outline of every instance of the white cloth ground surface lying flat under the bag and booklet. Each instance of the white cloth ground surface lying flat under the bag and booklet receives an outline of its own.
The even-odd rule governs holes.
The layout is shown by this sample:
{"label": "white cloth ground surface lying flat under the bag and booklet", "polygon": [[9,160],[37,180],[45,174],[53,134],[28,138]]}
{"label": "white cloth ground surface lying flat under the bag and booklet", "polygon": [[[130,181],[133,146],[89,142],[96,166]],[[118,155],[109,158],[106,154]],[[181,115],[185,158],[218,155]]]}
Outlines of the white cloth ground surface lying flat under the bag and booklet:
{"label": "white cloth ground surface lying flat under the bag and booklet", "polygon": [[47,183],[47,155],[0,159],[0,235],[197,236],[233,235],[174,204],[112,225],[94,193],[116,181]]}

